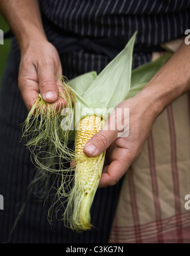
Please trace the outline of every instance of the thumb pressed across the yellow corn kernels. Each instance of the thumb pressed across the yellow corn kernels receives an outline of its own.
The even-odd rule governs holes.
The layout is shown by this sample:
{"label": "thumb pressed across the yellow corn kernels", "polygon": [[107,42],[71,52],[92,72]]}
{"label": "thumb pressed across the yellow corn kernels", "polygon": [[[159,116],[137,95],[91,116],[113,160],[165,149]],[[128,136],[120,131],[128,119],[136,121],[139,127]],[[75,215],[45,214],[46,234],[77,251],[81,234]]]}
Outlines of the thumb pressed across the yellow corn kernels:
{"label": "thumb pressed across the yellow corn kernels", "polygon": [[108,149],[112,142],[117,138],[116,131],[101,130],[98,131],[84,146],[84,154],[87,156],[98,156]]}

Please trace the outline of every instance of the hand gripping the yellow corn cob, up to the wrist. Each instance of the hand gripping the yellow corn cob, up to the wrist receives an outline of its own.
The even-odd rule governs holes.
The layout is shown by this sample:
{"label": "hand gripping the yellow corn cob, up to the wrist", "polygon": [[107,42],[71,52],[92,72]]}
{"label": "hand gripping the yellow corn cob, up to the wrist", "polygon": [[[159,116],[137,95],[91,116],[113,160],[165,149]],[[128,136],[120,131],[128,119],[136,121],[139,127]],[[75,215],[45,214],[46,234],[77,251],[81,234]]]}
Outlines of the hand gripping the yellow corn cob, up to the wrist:
{"label": "hand gripping the yellow corn cob, up to the wrist", "polygon": [[[129,108],[129,123],[126,123],[125,120],[125,128],[129,127],[129,135],[118,137],[118,129],[110,129],[110,115],[107,122],[108,129],[96,133],[84,147],[84,153],[87,156],[97,156],[106,150],[105,166],[99,187],[117,184],[118,180],[127,172],[129,166],[139,156],[156,117],[153,107],[149,107],[148,101],[141,100],[141,97],[137,95],[117,105],[117,108]],[[123,121],[124,116],[122,117]],[[92,154],[93,152],[94,154]]]}

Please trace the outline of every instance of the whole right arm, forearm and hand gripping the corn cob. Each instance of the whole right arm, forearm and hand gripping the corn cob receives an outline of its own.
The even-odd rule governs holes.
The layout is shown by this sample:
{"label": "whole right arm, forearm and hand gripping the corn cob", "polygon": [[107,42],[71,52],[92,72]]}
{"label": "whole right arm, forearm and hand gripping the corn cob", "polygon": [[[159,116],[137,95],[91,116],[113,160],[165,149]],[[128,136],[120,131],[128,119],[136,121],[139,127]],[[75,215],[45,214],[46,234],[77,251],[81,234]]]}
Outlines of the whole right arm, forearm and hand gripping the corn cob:
{"label": "whole right arm, forearm and hand gripping the corn cob", "polygon": [[[129,108],[129,135],[117,137],[118,130],[101,130],[84,147],[87,156],[106,150],[99,187],[117,184],[141,152],[157,116],[176,98],[190,90],[190,48],[182,43],[174,55],[136,96],[117,106]],[[108,123],[110,123],[108,119]]]}

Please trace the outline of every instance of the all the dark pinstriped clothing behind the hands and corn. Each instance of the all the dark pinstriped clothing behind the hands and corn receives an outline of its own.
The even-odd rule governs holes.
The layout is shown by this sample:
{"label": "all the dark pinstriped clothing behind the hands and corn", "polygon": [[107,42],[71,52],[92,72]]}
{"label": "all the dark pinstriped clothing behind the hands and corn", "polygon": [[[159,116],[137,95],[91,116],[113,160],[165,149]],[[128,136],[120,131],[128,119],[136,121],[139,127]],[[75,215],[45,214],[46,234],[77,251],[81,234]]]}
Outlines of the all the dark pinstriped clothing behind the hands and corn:
{"label": "all the dark pinstriped clothing behind the hands and corn", "polygon": [[[151,60],[160,43],[184,35],[190,28],[190,1],[185,0],[40,0],[47,38],[60,53],[63,74],[71,79],[88,71],[98,73],[138,30],[133,68]],[[30,28],[28,28],[30,29]],[[0,96],[0,241],[7,241],[27,187],[34,177],[30,154],[20,143],[20,124],[27,116],[18,90],[20,50],[13,38]],[[99,189],[92,205],[97,229],[73,233],[61,222],[47,222],[48,205],[31,195],[9,243],[106,243],[120,183]]]}

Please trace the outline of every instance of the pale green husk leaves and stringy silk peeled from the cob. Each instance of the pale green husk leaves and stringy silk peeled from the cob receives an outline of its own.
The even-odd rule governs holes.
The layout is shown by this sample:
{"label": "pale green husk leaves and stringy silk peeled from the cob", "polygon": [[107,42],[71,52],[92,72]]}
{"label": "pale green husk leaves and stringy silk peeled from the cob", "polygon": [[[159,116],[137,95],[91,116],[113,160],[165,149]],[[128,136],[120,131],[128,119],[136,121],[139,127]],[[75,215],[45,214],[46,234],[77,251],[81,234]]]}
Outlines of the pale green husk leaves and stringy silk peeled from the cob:
{"label": "pale green husk leaves and stringy silk peeled from the cob", "polygon": [[[96,180],[93,191],[91,191],[89,199],[85,203],[85,205],[87,205],[85,210],[87,223],[85,223],[85,225],[80,224],[79,220],[73,219],[73,216],[75,216],[75,214],[73,214],[73,211],[75,211],[73,205],[76,202],[74,202],[75,198],[70,200],[70,194],[73,189],[73,184],[75,184],[75,175],[72,168],[65,168],[63,165],[65,159],[66,162],[75,160],[74,149],[70,149],[67,144],[72,140],[76,140],[76,129],[80,119],[87,115],[96,114],[103,118],[103,124],[105,124],[108,119],[108,114],[110,113],[108,109],[115,108],[120,102],[133,97],[142,90],[144,85],[149,82],[151,77],[155,75],[171,56],[170,54],[163,55],[163,57],[160,57],[155,62],[142,65],[132,71],[132,53],[135,39],[136,33],[127,43],[124,50],[122,50],[99,75],[96,71],[92,71],[75,77],[68,81],[67,84],[63,84],[63,88],[66,88],[66,91],[70,91],[73,100],[73,104],[68,101],[70,102],[70,108],[74,111],[73,116],[68,114],[68,120],[75,118],[76,125],[73,126],[73,123],[70,122],[69,125],[67,125],[69,131],[63,129],[63,124],[66,125],[66,123],[62,122],[63,115],[56,114],[56,118],[54,118],[54,114],[51,112],[51,105],[46,104],[41,97],[39,97],[40,101],[38,100],[36,102],[34,108],[28,114],[29,118],[27,122],[25,122],[23,136],[27,139],[32,136],[32,138],[27,140],[27,146],[34,156],[34,164],[38,169],[33,183],[35,185],[37,184],[38,191],[40,191],[43,196],[46,187],[43,187],[42,184],[48,183],[49,173],[53,173],[56,176],[51,187],[54,193],[51,192],[53,201],[51,202],[48,212],[50,222],[53,219],[53,212],[56,213],[56,217],[58,217],[60,212],[63,212],[61,217],[64,220],[65,226],[71,227],[77,232],[80,232],[81,226],[82,231],[91,227],[90,210],[98,189],[103,164],[99,168],[99,177],[98,180]],[[63,95],[61,95],[61,97],[64,98]],[[34,109],[36,107],[41,109],[42,104],[48,105],[49,107],[49,114],[47,115],[49,118],[48,121],[44,112],[39,111],[38,116],[35,116]],[[87,112],[86,109],[88,109],[89,112]],[[43,122],[37,121],[39,118],[42,118]],[[32,123],[29,121],[30,119],[32,119]],[[34,125],[33,130],[32,125]],[[38,149],[37,154],[35,147]],[[105,159],[105,152],[103,152],[103,154]],[[46,182],[44,182],[44,180],[46,180]],[[65,202],[67,202],[66,206]],[[78,206],[78,208],[80,207]]]}

